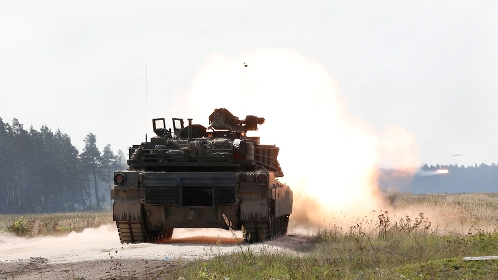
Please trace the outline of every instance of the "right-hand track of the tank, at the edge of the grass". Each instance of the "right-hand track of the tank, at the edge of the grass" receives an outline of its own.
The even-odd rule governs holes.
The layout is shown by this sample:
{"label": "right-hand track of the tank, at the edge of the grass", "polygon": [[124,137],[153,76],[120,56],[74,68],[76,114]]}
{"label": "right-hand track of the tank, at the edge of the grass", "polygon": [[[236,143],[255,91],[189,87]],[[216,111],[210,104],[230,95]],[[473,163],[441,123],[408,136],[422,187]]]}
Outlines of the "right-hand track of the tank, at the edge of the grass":
{"label": "right-hand track of the tank, at the edge of the grass", "polygon": [[270,217],[268,222],[244,222],[244,242],[263,242],[287,234],[289,216]]}

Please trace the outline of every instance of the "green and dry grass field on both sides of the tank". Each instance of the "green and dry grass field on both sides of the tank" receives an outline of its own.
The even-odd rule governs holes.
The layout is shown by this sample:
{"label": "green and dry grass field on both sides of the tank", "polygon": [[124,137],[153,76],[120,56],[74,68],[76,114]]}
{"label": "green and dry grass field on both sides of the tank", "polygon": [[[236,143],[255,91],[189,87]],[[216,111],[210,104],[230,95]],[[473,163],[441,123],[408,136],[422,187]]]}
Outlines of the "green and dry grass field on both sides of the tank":
{"label": "green and dry grass field on both sides of the tank", "polygon": [[[164,279],[498,279],[498,260],[463,260],[498,255],[497,209],[497,194],[401,196],[388,210],[349,223],[332,219],[302,250],[239,245],[225,255],[214,246],[212,258],[179,261]],[[3,231],[24,236],[110,222],[109,212],[0,216]]]}

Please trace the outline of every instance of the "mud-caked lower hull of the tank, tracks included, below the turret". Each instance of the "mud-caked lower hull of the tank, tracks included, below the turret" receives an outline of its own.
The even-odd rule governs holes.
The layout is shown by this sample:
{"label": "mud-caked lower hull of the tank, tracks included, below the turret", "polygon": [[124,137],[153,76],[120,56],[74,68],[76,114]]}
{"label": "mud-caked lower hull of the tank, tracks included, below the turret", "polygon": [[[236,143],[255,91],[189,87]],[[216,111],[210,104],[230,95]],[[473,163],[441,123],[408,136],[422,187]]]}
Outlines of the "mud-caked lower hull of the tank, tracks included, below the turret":
{"label": "mud-caked lower hull of the tank, tracks included, below the turret", "polygon": [[170,238],[174,228],[242,230],[246,241],[264,241],[285,234],[292,213],[291,189],[271,172],[116,174],[126,178],[112,191],[123,243]]}

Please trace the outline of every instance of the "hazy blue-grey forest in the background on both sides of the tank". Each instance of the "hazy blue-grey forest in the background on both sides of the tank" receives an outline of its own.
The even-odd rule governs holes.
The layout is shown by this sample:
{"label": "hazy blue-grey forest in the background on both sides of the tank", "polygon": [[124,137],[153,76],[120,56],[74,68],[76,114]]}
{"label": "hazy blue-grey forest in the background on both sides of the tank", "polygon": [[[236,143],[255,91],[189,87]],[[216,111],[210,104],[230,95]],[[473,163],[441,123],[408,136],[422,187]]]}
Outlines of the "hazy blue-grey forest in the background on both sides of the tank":
{"label": "hazy blue-grey forest in the background on both sides of the tank", "polygon": [[[102,150],[89,133],[81,151],[46,126],[25,130],[0,118],[0,214],[104,210],[111,207],[114,171],[126,169],[122,150]],[[439,173],[437,170],[448,170]],[[427,165],[417,172],[380,169],[378,186],[406,193],[497,192],[498,166]]]}

